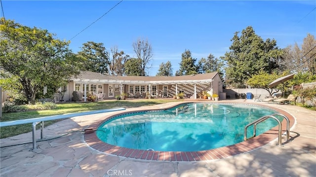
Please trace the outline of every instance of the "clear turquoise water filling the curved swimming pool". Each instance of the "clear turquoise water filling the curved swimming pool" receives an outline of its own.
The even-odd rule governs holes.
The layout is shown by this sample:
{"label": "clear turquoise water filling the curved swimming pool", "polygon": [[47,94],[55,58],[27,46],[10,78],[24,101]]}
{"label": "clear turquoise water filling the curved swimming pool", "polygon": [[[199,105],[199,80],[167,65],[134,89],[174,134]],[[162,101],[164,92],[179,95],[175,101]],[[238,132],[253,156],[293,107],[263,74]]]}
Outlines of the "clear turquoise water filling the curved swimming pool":
{"label": "clear turquoise water filling the curved swimming pool", "polygon": [[[167,110],[119,115],[100,125],[96,134],[103,142],[133,149],[199,151],[242,142],[247,124],[273,113],[276,111],[250,105],[182,104]],[[276,125],[273,119],[258,124],[257,136]],[[247,135],[252,133],[253,126]]]}

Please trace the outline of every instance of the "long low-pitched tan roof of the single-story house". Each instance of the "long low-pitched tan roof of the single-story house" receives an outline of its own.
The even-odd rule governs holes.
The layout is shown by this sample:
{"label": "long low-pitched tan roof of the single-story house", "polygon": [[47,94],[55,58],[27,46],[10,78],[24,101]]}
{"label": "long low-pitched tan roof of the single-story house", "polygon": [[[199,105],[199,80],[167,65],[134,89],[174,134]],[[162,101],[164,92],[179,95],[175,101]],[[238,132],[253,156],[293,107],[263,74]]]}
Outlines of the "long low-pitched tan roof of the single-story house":
{"label": "long low-pitched tan roof of the single-story house", "polygon": [[213,81],[218,72],[192,74],[181,76],[114,76],[98,72],[81,71],[73,79],[80,83],[110,83],[110,84],[206,84]]}

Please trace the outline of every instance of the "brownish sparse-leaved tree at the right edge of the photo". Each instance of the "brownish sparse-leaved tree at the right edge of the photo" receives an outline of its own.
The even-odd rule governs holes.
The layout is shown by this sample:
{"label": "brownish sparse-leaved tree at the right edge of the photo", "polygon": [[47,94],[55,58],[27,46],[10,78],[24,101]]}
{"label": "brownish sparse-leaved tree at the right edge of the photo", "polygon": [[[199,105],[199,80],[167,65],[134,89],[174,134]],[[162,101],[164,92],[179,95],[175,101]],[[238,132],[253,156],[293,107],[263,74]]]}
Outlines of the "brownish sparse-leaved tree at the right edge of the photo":
{"label": "brownish sparse-leaved tree at the right edge of the photo", "polygon": [[316,74],[316,39],[314,35],[307,34],[301,48],[297,43],[284,48],[283,66],[285,70],[295,73],[310,72]]}

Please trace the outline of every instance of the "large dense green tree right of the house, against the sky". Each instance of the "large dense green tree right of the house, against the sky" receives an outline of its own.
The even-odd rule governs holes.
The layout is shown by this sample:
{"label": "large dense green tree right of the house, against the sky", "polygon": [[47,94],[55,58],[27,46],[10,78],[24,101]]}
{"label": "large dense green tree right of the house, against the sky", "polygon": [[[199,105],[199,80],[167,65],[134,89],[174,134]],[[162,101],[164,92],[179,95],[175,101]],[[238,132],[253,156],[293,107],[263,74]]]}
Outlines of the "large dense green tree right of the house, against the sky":
{"label": "large dense green tree right of the house, against the sky", "polygon": [[278,70],[283,51],[276,47],[275,39],[264,41],[255,34],[251,26],[242,30],[241,35],[236,32],[230,46],[230,51],[222,57],[227,62],[227,83],[235,83],[245,87],[245,83],[252,75],[263,70],[272,73]]}

